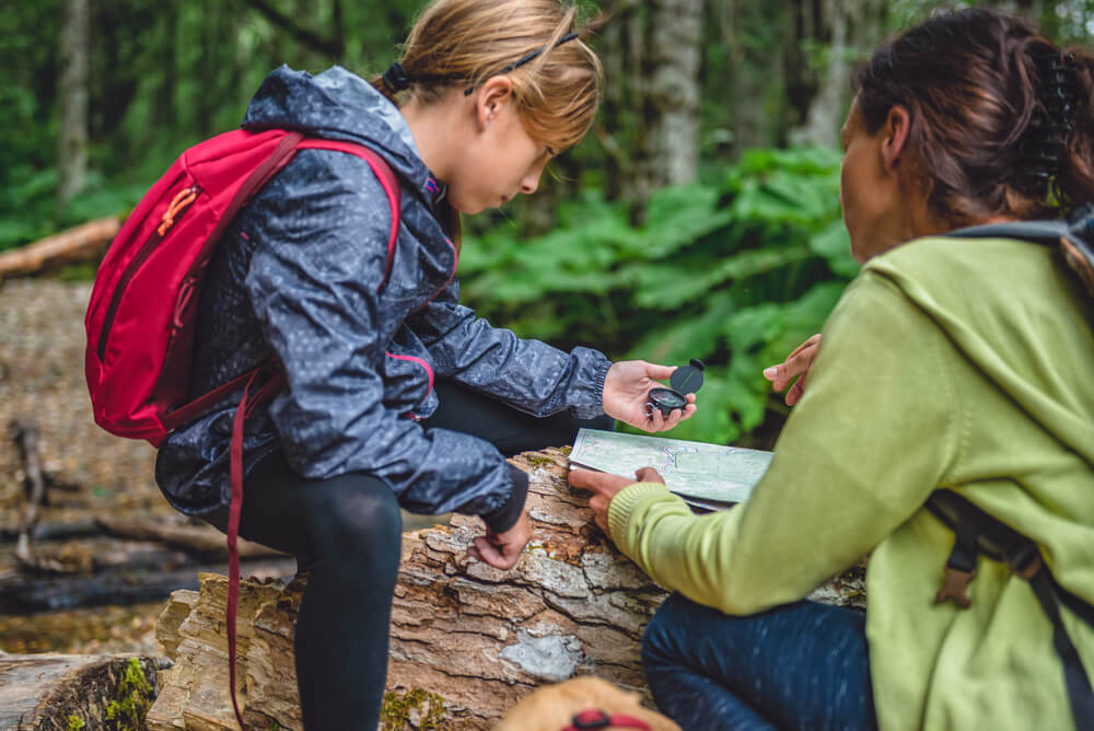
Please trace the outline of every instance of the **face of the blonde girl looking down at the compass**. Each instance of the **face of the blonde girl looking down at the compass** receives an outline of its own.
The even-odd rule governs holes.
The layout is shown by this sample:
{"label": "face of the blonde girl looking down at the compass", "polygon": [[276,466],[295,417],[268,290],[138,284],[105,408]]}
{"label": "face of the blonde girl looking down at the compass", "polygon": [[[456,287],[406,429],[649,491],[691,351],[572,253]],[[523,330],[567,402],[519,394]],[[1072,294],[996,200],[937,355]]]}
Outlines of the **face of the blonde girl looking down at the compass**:
{"label": "face of the blonde girl looking down at the compass", "polygon": [[511,95],[496,100],[479,115],[446,181],[452,206],[462,213],[478,213],[519,194],[535,193],[552,154],[525,130]]}

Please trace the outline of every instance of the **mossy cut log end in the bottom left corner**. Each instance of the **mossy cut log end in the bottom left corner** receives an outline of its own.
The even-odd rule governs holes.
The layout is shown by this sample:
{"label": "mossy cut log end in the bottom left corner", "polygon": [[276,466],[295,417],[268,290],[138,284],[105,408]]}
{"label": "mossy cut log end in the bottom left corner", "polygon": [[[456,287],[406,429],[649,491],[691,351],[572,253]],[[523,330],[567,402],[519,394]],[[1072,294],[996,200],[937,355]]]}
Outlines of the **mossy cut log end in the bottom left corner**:
{"label": "mossy cut log end in the bottom left corner", "polygon": [[0,729],[141,728],[155,684],[149,658],[0,653]]}

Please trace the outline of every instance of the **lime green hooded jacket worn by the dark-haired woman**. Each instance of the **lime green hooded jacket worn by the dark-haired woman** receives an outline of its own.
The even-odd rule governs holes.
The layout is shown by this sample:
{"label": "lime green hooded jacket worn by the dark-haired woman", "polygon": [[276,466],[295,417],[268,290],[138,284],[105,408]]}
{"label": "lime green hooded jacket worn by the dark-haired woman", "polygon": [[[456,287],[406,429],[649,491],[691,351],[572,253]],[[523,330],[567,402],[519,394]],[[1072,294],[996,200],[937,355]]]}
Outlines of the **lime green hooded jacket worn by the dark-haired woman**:
{"label": "lime green hooded jacket worn by the dark-haired woman", "polygon": [[[749,500],[694,515],[661,485],[609,510],[619,548],[728,614],[804,597],[873,552],[866,637],[882,729],[1073,727],[1029,585],[981,558],[973,606],[933,604],[946,487],[1040,544],[1094,602],[1094,311],[1051,250],[923,239],[870,262]],[[1094,631],[1064,611],[1087,673]]]}

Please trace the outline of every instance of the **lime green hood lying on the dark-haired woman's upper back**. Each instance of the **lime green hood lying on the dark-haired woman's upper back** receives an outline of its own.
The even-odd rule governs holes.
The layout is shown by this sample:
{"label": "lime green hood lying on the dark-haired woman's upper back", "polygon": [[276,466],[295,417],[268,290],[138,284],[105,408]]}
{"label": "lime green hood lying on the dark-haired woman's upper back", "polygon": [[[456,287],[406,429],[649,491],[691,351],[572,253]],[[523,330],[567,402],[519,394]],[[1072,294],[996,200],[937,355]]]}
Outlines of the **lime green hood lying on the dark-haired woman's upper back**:
{"label": "lime green hood lying on the dark-haired woman's upper back", "polygon": [[[871,259],[985,378],[1094,464],[1091,303],[1052,248],[1006,239],[921,239]],[[1081,347],[1076,347],[1080,343]]]}

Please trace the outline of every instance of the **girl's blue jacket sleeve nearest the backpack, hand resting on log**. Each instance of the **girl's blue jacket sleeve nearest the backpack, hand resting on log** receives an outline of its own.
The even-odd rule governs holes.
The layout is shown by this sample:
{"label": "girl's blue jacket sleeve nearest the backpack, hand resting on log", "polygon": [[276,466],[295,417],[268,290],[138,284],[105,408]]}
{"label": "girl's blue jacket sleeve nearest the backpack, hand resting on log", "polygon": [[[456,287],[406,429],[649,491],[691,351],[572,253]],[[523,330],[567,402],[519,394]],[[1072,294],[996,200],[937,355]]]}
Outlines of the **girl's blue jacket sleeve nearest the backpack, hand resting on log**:
{"label": "girl's blue jacket sleeve nearest the backpack, hand resting on log", "polygon": [[293,468],[310,478],[366,472],[414,512],[507,513],[513,476],[490,443],[427,432],[383,402],[376,290],[391,212],[368,164],[301,152],[252,207],[263,239],[244,287],[284,368],[288,388],[270,415]]}

